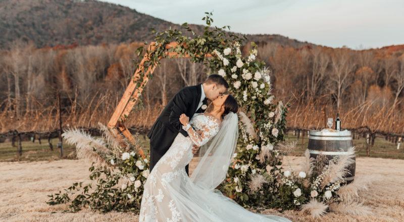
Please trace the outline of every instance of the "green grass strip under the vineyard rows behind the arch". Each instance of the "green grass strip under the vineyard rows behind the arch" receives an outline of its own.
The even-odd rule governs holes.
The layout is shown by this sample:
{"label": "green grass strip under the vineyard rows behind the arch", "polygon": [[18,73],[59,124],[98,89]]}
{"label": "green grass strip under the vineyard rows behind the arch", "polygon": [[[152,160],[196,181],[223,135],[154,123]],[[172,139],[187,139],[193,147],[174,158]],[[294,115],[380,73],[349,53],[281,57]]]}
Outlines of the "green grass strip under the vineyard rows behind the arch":
{"label": "green grass strip under the vineyard rows behind the arch", "polygon": [[[296,141],[297,137],[293,134],[288,135],[290,141]],[[145,135],[140,135],[140,144],[147,152],[149,149],[148,138]],[[58,138],[52,139],[54,150],[49,148],[47,140],[42,140],[42,144],[39,144],[36,140],[35,143],[30,141],[22,142],[23,154],[19,156],[17,154],[17,147],[12,147],[11,142],[0,143],[0,161],[38,161],[38,160],[57,160],[61,159],[60,149],[57,148]],[[300,137],[296,143],[296,149],[293,150],[290,155],[301,156],[308,144],[309,139]],[[366,156],[366,142],[365,139],[354,140],[354,145],[357,148],[357,156]],[[63,147],[64,156],[63,159],[75,159],[75,148],[71,145],[64,144]],[[393,158],[404,159],[404,143],[401,144],[400,149],[397,149],[395,143],[386,141],[384,138],[376,137],[375,145],[371,148],[370,157],[380,158]]]}

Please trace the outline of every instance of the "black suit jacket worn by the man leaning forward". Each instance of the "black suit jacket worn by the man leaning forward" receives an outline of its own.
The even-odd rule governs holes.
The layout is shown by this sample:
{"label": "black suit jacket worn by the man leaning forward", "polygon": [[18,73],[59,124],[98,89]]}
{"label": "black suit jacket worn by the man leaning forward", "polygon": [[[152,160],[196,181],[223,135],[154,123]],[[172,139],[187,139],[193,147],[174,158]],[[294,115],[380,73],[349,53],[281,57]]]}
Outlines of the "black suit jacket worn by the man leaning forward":
{"label": "black suit jacket worn by the man leaning forward", "polygon": [[[195,113],[204,112],[201,107],[195,112],[202,94],[201,90],[201,84],[181,89],[168,102],[153,127],[151,127],[147,134],[150,139],[150,172],[170,148],[178,133],[185,137],[188,136],[188,133],[181,127],[180,115],[185,114],[191,119]],[[206,101],[205,99],[203,103],[206,104]],[[189,165],[186,165],[185,171],[189,175],[188,167]]]}

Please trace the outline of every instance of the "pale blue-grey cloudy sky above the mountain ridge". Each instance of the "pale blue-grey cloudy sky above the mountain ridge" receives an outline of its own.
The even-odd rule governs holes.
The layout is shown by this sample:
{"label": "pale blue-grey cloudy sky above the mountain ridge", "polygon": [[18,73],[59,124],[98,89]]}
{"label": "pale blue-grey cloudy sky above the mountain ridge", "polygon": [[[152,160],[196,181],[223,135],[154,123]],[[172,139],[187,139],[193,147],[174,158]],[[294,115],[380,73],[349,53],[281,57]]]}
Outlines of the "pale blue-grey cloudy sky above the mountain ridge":
{"label": "pale blue-grey cloudy sky above the mountain ridge", "polygon": [[280,34],[352,49],[404,44],[404,0],[103,0],[176,24],[229,25],[246,34]]}

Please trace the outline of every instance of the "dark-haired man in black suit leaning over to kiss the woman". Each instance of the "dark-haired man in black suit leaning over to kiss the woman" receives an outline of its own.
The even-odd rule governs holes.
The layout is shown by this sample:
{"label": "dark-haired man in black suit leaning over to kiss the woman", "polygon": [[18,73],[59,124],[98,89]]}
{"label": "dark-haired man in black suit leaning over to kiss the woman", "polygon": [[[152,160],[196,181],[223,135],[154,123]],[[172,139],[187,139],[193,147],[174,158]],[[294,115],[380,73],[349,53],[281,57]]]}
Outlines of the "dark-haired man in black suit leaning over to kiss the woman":
{"label": "dark-haired man in black suit leaning over to kiss the woman", "polygon": [[[192,118],[195,113],[205,112],[207,99],[216,99],[228,88],[229,85],[222,76],[212,74],[203,84],[182,88],[174,95],[147,134],[150,139],[150,172],[170,148],[178,133],[188,136],[181,128],[180,115],[185,114]],[[194,148],[193,152],[196,150]],[[189,165],[186,165],[185,171],[189,176],[188,168]]]}

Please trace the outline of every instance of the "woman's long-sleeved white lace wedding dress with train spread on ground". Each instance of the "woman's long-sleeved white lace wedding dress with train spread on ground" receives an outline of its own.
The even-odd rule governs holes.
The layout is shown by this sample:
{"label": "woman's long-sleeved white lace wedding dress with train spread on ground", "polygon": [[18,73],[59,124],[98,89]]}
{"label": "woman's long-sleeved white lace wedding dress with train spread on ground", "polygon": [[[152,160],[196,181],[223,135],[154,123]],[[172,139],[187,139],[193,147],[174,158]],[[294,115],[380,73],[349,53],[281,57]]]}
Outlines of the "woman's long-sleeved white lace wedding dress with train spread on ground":
{"label": "woman's long-sleeved white lace wedding dress with train spread on ground", "polygon": [[185,165],[193,157],[192,145],[206,144],[219,132],[220,124],[205,114],[195,114],[189,123],[189,136],[178,133],[150,172],[144,184],[139,222],[290,221],[276,215],[252,213],[220,191],[195,184],[185,172]]}

